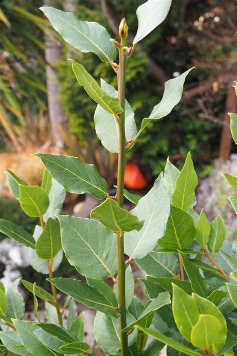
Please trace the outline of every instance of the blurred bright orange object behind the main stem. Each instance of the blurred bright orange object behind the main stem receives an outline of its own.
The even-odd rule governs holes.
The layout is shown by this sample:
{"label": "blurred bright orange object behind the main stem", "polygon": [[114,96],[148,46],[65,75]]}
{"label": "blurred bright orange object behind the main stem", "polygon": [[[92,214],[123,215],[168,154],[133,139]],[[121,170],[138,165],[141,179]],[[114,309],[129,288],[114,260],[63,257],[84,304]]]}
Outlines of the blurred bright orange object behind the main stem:
{"label": "blurred bright orange object behind the main stem", "polygon": [[125,166],[124,185],[130,189],[142,189],[147,186],[147,180],[135,162],[127,162]]}

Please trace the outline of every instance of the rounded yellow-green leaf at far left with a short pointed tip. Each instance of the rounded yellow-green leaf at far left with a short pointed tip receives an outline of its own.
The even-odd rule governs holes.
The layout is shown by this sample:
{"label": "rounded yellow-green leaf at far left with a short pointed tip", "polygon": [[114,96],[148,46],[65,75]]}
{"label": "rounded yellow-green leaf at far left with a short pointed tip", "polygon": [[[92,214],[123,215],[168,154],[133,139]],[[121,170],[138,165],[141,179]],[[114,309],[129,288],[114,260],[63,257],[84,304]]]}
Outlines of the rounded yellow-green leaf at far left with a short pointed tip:
{"label": "rounded yellow-green leaf at far left with a short pointed tip", "polygon": [[25,185],[19,185],[19,202],[21,209],[26,215],[31,217],[42,216],[49,204],[48,196],[45,191],[38,187],[27,187]]}

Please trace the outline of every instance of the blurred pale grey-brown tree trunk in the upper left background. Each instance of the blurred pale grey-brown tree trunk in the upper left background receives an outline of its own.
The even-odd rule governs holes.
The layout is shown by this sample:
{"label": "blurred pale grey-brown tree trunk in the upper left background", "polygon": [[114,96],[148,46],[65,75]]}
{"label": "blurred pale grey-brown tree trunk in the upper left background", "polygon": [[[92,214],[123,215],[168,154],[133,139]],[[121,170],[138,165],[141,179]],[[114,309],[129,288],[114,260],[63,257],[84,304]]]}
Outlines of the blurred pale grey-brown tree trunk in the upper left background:
{"label": "blurred pale grey-brown tree trunk in the upper left background", "polygon": [[[56,0],[43,0],[43,6],[57,7]],[[60,87],[57,83],[57,76],[54,70],[56,62],[61,59],[61,44],[51,39],[48,34],[44,34],[45,60],[46,60],[46,84],[48,115],[51,123],[53,141],[56,148],[64,145],[60,127],[65,128],[66,117],[60,102]]]}

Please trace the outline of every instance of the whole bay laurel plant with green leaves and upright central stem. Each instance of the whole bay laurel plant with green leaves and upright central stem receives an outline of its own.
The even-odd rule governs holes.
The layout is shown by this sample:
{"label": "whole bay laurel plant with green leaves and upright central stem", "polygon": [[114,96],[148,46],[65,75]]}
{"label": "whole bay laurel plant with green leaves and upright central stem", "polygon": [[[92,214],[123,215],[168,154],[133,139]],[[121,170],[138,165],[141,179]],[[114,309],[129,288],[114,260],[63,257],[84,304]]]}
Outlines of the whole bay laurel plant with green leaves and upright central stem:
{"label": "whole bay laurel plant with green leaves and upright central stem", "polygon": [[[41,8],[68,44],[93,52],[117,76],[117,90],[102,79],[98,85],[81,64],[71,61],[79,85],[97,103],[94,123],[101,144],[118,154],[117,191],[109,196],[95,167],[70,156],[35,154],[45,166],[40,187],[28,186],[6,171],[11,193],[38,224],[31,236],[1,219],[0,231],[27,247],[32,267],[48,275],[51,293],[21,280],[34,301],[34,318],[26,321],[19,280],[7,291],[0,284],[3,355],[94,353],[84,340],[83,314],[77,316],[75,301],[96,310],[95,344],[109,355],[152,356],[165,344],[168,356],[236,354],[237,263],[221,216],[209,222],[203,211],[198,215],[193,210],[197,176],[190,153],[181,171],[167,159],[145,196],[123,188],[127,151],[152,120],[167,116],[180,101],[191,70],[165,83],[163,98],[137,131],[125,100],[129,58],[135,56],[138,42],[165,19],[170,5],[171,0],[148,0],[137,9],[138,30],[131,47],[125,19],[113,40],[97,23]],[[101,204],[90,219],[59,215],[65,191],[90,193]],[[123,196],[135,205],[133,210],[123,209]],[[54,278],[63,253],[84,278]],[[138,281],[144,285],[145,301],[134,295],[131,262],[146,274]],[[59,291],[65,295],[64,304],[58,300]],[[45,303],[46,318],[38,311],[39,299]]]}

